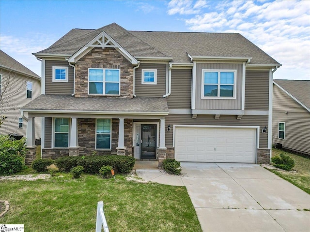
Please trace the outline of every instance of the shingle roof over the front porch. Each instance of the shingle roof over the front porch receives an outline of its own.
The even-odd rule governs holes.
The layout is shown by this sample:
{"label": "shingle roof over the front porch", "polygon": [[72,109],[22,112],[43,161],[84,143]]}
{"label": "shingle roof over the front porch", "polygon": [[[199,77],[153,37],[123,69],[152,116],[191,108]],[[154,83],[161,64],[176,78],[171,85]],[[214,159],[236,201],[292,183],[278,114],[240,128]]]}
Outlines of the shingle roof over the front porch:
{"label": "shingle roof over the front porch", "polygon": [[166,98],[76,98],[70,95],[40,95],[21,110],[25,112],[129,112],[149,113],[152,115],[162,113],[168,114],[169,109]]}

